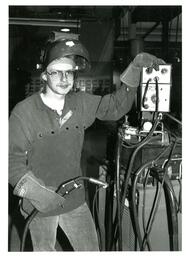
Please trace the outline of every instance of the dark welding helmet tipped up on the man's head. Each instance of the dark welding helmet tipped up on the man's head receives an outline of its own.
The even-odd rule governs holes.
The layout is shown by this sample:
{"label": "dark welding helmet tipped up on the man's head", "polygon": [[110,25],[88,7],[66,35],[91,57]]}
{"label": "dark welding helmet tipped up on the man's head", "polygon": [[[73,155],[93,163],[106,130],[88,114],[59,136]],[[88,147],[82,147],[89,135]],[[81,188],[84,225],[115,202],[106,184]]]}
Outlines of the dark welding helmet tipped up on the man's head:
{"label": "dark welding helmet tipped up on the man's head", "polygon": [[75,62],[75,70],[86,71],[90,68],[89,54],[79,40],[61,39],[47,45],[43,56],[43,68],[54,60],[70,58]]}

